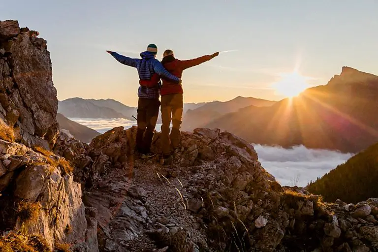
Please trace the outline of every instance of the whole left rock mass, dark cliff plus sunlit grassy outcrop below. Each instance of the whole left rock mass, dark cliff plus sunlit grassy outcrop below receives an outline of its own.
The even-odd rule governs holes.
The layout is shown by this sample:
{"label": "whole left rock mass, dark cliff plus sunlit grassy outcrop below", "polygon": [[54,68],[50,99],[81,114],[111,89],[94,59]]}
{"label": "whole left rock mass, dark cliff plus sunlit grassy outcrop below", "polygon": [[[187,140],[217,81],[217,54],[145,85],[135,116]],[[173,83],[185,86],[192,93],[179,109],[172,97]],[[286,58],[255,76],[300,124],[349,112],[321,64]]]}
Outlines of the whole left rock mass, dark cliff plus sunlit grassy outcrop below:
{"label": "whole left rock mass, dark cliff plus sunlit grassy outcrop below", "polygon": [[73,168],[49,151],[59,136],[58,100],[37,36],[0,22],[0,251],[98,251]]}

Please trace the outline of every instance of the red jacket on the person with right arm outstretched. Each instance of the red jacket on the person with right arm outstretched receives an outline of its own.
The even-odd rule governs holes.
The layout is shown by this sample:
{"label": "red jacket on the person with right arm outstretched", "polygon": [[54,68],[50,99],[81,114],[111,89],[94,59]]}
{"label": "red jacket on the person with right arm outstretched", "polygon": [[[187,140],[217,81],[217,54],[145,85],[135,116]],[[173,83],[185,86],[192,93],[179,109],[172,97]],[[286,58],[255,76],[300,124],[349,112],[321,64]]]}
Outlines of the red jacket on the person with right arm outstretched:
{"label": "red jacket on the person with right arm outstretched", "polygon": [[[164,68],[168,70],[171,74],[175,75],[178,78],[181,78],[183,75],[183,71],[189,67],[199,65],[200,63],[204,63],[210,61],[210,55],[205,55],[196,59],[187,60],[187,61],[180,61],[175,59],[172,55],[165,56],[161,63],[163,64]],[[162,86],[160,95],[169,95],[169,94],[183,94],[184,90],[182,85],[177,84],[169,79],[161,77]]]}

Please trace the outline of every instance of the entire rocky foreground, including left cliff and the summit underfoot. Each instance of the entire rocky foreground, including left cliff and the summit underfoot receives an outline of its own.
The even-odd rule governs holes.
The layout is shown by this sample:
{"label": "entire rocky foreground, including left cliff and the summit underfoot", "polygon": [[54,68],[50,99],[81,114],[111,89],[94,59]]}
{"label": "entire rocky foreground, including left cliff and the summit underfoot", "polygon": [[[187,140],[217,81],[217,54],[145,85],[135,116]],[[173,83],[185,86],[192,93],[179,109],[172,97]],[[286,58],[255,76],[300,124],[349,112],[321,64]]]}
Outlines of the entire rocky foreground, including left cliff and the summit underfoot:
{"label": "entire rocky foreground, including left cliff and the summit underfoot", "polygon": [[[9,68],[1,85],[12,83],[1,93],[9,105],[1,103],[0,251],[378,251],[377,198],[327,203],[305,189],[283,188],[253,146],[231,133],[182,132],[172,164],[163,166],[158,155],[134,153],[135,127],[116,127],[90,144],[59,132],[47,117],[56,115],[57,98],[51,69],[42,67],[51,67],[46,43],[15,21],[0,28],[1,46],[25,43],[22,50],[0,48]],[[15,56],[28,50],[36,51]],[[15,74],[21,69],[24,80]],[[39,74],[44,78],[35,79]],[[51,100],[38,96],[36,84]],[[13,109],[20,115],[12,121]],[[24,111],[46,117],[24,117]],[[161,153],[159,132],[152,151]]]}

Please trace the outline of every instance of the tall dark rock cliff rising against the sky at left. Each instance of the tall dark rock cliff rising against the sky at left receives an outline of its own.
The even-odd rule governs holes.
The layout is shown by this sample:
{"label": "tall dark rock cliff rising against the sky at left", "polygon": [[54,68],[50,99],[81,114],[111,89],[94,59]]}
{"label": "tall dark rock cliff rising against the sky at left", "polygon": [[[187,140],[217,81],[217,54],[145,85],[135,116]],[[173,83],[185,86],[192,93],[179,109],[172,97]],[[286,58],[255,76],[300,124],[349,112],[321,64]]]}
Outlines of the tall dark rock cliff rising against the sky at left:
{"label": "tall dark rock cliff rising against the sky at left", "polygon": [[46,41],[17,21],[0,22],[0,118],[27,146],[54,146],[57,91]]}

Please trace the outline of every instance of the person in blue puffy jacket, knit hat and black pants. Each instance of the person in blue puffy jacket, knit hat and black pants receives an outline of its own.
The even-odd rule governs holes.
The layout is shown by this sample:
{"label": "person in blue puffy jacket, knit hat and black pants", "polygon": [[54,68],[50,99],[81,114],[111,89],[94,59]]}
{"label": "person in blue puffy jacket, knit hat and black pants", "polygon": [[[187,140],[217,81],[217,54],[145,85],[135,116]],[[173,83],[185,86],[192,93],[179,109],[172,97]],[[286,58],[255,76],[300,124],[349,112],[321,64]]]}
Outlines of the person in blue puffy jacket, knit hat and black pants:
{"label": "person in blue puffy jacket, knit hat and black pants", "polygon": [[155,44],[149,44],[147,51],[140,54],[142,59],[132,59],[112,51],[106,52],[120,63],[136,67],[138,70],[140,86],[138,89],[136,149],[139,153],[149,156],[160,107],[160,76],[178,84],[181,84],[181,79],[169,73],[156,59],[158,47]]}

